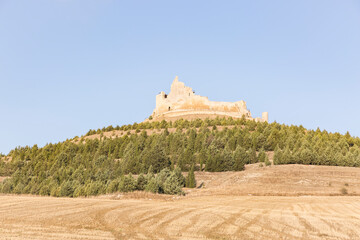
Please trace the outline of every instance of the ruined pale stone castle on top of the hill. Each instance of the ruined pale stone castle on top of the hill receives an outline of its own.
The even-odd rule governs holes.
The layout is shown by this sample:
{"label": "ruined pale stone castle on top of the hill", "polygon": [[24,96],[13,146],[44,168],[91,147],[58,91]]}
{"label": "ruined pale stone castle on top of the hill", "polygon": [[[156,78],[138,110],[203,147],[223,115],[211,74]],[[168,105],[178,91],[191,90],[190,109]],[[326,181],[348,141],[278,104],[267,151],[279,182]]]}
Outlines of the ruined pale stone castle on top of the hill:
{"label": "ruined pale stone castle on top of the hill", "polygon": [[185,86],[175,77],[171,84],[170,93],[160,92],[156,95],[156,107],[151,117],[155,121],[232,117],[254,119],[257,122],[267,122],[268,113],[264,112],[261,118],[252,118],[246,108],[245,101],[213,102],[207,97],[196,95],[192,88]]}

